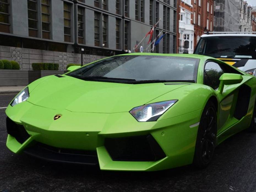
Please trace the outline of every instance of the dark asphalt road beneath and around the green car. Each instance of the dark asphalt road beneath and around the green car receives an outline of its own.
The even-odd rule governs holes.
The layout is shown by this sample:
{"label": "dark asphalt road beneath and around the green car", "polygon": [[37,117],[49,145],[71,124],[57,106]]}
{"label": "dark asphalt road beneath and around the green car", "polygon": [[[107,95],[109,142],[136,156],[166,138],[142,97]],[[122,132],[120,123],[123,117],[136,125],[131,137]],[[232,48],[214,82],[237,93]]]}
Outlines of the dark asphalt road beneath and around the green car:
{"label": "dark asphalt road beneath and around the green car", "polygon": [[[0,94],[0,108],[14,96]],[[4,111],[0,109],[0,191],[256,191],[256,134],[243,131],[227,139],[206,169],[109,172],[10,152]]]}

